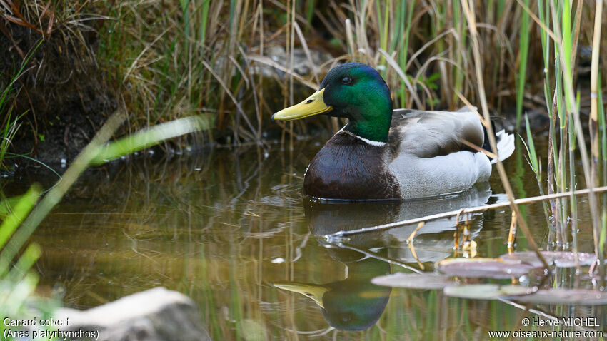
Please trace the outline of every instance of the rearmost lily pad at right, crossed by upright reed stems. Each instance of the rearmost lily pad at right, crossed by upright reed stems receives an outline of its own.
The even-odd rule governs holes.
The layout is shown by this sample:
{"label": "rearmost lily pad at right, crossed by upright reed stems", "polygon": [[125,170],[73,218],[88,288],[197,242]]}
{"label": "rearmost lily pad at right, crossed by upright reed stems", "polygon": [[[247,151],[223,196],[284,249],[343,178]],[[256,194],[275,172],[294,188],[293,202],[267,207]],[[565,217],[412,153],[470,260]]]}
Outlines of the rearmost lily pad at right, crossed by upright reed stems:
{"label": "rearmost lily pad at right, crossed by upright reed stems", "polygon": [[[573,268],[576,266],[576,254],[566,251],[541,251],[543,258],[546,259],[548,265],[555,265],[558,268]],[[533,251],[512,253],[508,255],[499,256],[499,258],[505,262],[522,262],[543,267],[543,263]],[[578,259],[581,266],[591,265],[595,260],[596,256],[594,253],[578,253]]]}

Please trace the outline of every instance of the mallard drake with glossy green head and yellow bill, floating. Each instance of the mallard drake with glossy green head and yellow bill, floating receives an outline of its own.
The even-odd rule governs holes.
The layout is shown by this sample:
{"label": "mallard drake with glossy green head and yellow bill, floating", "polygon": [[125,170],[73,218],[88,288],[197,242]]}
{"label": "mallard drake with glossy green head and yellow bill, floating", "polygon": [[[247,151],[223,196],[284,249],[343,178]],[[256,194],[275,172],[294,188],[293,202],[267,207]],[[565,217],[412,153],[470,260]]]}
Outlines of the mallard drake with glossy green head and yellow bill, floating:
{"label": "mallard drake with glossy green head and yellow bill, floating", "polygon": [[[314,198],[423,198],[467,190],[491,175],[494,160],[463,142],[491,151],[478,113],[393,110],[386,82],[366,64],[332,68],[320,90],[272,118],[318,114],[348,118],[348,123],[306,170],[303,190]],[[514,138],[504,131],[496,138],[503,160],[513,152]]]}

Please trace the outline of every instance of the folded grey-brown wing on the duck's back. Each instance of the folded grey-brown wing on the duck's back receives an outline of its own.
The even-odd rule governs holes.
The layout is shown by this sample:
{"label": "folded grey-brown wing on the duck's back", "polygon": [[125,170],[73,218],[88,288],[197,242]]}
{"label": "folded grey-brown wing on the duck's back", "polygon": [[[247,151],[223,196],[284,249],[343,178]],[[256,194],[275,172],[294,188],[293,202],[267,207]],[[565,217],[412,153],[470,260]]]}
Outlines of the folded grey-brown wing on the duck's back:
{"label": "folded grey-brown wing on the duck's back", "polygon": [[390,147],[393,157],[406,153],[432,158],[473,150],[462,141],[483,146],[484,132],[472,111],[420,111],[396,109],[392,113]]}

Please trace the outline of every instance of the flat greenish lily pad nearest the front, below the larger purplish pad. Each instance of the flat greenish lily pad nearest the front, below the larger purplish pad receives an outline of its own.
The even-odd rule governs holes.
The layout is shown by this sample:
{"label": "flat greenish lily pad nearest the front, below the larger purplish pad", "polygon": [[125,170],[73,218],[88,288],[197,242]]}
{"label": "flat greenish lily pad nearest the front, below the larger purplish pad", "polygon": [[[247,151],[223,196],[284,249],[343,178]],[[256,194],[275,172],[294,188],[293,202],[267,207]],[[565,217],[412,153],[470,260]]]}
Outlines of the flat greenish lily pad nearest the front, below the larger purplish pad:
{"label": "flat greenish lily pad nearest the front, below the larger purplish pad", "polygon": [[473,300],[496,300],[501,297],[529,295],[536,289],[521,285],[469,284],[445,287],[445,295]]}

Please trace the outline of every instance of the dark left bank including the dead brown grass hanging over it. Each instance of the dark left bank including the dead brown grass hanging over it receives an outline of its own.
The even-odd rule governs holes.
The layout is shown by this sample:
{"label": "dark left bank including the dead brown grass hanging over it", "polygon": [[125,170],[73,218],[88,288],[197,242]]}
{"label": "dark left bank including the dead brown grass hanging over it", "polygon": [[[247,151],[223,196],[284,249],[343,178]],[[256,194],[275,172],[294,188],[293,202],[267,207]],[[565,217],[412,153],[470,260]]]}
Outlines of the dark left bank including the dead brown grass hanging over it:
{"label": "dark left bank including the dead brown grass hanging over it", "polygon": [[[13,83],[4,110],[20,117],[12,153],[72,159],[116,110],[115,89],[98,68],[99,9],[90,1],[0,0],[0,88]],[[11,123],[0,115],[2,127]]]}

